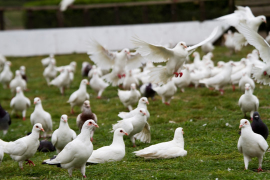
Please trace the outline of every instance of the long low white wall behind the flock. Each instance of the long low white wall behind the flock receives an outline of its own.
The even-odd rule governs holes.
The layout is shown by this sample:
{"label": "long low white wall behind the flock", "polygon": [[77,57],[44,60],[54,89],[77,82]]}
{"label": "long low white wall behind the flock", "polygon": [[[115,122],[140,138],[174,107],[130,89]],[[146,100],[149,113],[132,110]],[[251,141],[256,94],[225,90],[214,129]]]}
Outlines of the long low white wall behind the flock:
{"label": "long low white wall behind the flock", "polygon": [[85,53],[87,40],[96,39],[110,50],[134,48],[132,36],[158,44],[176,44],[185,41],[195,44],[207,37],[219,25],[216,40],[228,28],[213,20],[152,23],[135,25],[111,25],[74,28],[48,28],[32,30],[0,31],[0,53],[5,56],[32,56],[68,53]]}

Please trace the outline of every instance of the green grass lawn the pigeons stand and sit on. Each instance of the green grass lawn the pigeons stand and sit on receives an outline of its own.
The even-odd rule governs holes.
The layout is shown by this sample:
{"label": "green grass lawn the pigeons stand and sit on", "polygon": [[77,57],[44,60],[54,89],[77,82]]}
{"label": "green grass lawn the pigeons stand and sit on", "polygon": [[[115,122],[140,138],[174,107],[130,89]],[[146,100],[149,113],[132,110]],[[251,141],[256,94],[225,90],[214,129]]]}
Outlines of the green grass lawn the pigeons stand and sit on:
{"label": "green grass lawn the pigeons stand and sit on", "polygon": [[[218,60],[228,61],[239,60],[251,52],[253,47],[247,46],[242,52],[228,55],[224,47],[216,46],[213,54],[215,63]],[[75,107],[75,114],[69,113],[70,106],[66,103],[69,95],[78,88],[81,80],[80,67],[82,61],[87,61],[86,54],[56,55],[57,65],[65,65],[70,61],[77,61],[75,78],[70,88],[61,96],[57,87],[46,85],[42,76],[43,67],[40,59],[44,56],[35,57],[8,57],[12,62],[11,69],[14,72],[20,65],[26,66],[28,76],[28,88],[24,94],[30,98],[39,96],[43,108],[53,118],[53,130],[58,128],[61,114],[69,116],[69,126],[78,133],[75,125],[76,115],[80,112]],[[112,133],[108,133],[111,124],[119,120],[117,113],[127,109],[121,104],[117,96],[117,87],[108,87],[103,92],[102,99],[96,99],[95,92],[87,87],[90,93],[91,108],[98,117],[99,128],[94,134],[94,149],[109,145],[112,141]],[[126,155],[119,162],[89,165],[86,167],[86,176],[89,179],[269,179],[270,155],[265,153],[263,158],[263,172],[257,173],[254,169],[258,166],[257,158],[249,162],[248,170],[244,170],[242,154],[237,150],[238,126],[243,118],[238,99],[242,93],[238,88],[232,91],[230,85],[225,87],[224,95],[218,91],[212,91],[205,87],[185,88],[182,93],[179,90],[171,100],[170,106],[161,103],[159,96],[156,100],[149,100],[148,110],[150,112],[149,124],[151,126],[151,142],[142,143],[136,141],[137,147],[133,148],[128,137],[124,137]],[[259,113],[263,121],[270,126],[269,122],[269,87],[256,84],[254,94],[259,98]],[[7,110],[11,111],[9,102],[11,92],[9,89],[0,87],[0,103]],[[8,133],[0,138],[6,141],[22,137],[31,130],[29,116],[34,105],[27,110],[26,120],[12,116],[12,123]],[[192,119],[192,121],[190,121]],[[173,120],[176,123],[169,123]],[[228,122],[232,127],[228,127]],[[206,123],[206,126],[202,126]],[[185,150],[187,155],[173,159],[146,160],[136,157],[132,151],[141,149],[150,144],[163,142],[172,139],[174,129],[183,127]],[[24,165],[21,170],[17,162],[5,154],[0,165],[0,179],[70,179],[66,169],[50,165],[41,165],[43,159],[49,158],[55,152],[36,152],[31,160],[35,166]],[[228,168],[230,170],[228,170]],[[72,177],[81,179],[79,170],[74,170]]]}

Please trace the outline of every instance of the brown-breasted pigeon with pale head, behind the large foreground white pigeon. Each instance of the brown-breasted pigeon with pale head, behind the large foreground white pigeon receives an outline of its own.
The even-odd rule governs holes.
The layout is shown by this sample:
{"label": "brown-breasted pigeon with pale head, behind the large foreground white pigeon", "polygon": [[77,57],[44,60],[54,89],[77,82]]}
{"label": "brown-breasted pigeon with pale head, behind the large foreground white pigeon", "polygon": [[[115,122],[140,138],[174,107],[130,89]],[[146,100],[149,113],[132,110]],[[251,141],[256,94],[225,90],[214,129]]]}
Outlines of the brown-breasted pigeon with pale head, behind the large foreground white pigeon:
{"label": "brown-breasted pigeon with pale head, behind the large foreground white pigeon", "polygon": [[[92,120],[94,120],[95,123],[97,123],[97,117],[96,117],[95,113],[93,113],[91,110],[89,100],[85,100],[83,102],[82,108],[83,108],[82,112],[80,114],[78,114],[77,118],[76,118],[76,125],[78,126],[79,131],[81,130],[81,127],[84,124],[84,122],[88,119],[92,119]],[[93,141],[94,130],[95,130],[95,128],[93,128],[92,131],[90,132],[91,141]]]}

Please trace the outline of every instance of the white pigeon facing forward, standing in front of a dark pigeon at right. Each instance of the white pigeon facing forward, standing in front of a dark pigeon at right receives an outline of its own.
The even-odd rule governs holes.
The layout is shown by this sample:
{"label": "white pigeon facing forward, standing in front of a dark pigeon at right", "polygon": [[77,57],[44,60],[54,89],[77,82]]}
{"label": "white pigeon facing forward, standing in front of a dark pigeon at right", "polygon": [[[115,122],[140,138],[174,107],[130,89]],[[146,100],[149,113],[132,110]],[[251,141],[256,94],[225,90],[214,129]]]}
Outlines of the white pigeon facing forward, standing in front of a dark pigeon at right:
{"label": "white pigeon facing forward, standing in front of a dark pigeon at right", "polygon": [[266,140],[260,134],[252,131],[247,119],[240,120],[239,128],[241,128],[241,135],[238,139],[237,148],[243,154],[244,169],[247,169],[248,162],[252,157],[258,157],[257,171],[262,171],[261,162],[265,151],[268,149]]}

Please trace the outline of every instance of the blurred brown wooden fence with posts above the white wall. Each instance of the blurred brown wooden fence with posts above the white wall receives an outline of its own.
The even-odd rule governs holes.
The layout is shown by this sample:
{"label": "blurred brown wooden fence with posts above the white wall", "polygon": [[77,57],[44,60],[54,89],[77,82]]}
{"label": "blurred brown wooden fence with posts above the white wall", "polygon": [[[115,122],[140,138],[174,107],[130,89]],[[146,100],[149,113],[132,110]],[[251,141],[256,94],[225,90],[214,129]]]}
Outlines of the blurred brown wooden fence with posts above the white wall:
{"label": "blurred brown wooden fence with posts above the white wall", "polygon": [[[114,9],[114,16],[115,16],[115,24],[119,24],[119,12],[118,8],[125,7],[125,6],[140,6],[142,8],[142,18],[143,22],[147,23],[147,6],[149,5],[170,5],[171,10],[171,20],[175,21],[177,19],[177,3],[186,3],[186,2],[196,2],[199,4],[199,12],[200,12],[200,19],[199,20],[205,20],[205,1],[217,1],[217,0],[158,0],[158,1],[136,1],[136,2],[117,2],[117,3],[100,3],[100,4],[83,4],[83,5],[72,5],[68,8],[71,9],[82,9],[84,14],[84,23],[85,25],[88,24],[88,19],[85,18],[88,16],[88,12],[90,9],[93,8],[113,8]],[[224,0],[223,0],[224,1]],[[270,16],[270,0],[225,0],[228,3],[229,12],[232,12],[234,10],[234,5],[248,5],[250,6],[252,12],[254,15],[257,14],[264,14],[267,16]],[[59,10],[59,6],[57,5],[51,5],[51,6],[32,6],[32,7],[0,7],[0,30],[4,30],[4,11],[9,10],[19,10],[19,11],[25,11],[26,12],[26,18],[28,18],[27,27],[31,28],[31,18],[33,18],[32,12],[38,11],[38,10],[55,10],[56,18],[57,18],[57,24],[58,27],[63,27],[63,19],[64,19],[64,13]]]}

